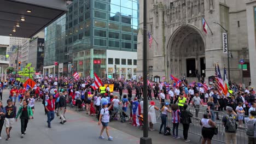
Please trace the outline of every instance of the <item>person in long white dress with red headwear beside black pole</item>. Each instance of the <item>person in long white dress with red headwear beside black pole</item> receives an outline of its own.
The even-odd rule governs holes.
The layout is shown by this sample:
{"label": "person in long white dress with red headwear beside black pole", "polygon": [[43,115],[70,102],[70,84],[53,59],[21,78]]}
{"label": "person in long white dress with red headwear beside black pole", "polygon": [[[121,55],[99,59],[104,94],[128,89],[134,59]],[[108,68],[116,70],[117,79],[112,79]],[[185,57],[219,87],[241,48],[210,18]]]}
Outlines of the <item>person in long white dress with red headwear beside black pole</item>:
{"label": "person in long white dress with red headwear beside black pole", "polygon": [[148,108],[148,122],[149,122],[149,130],[153,131],[153,125],[156,123],[156,115],[155,110],[159,110],[158,107],[155,106],[155,101],[150,101]]}

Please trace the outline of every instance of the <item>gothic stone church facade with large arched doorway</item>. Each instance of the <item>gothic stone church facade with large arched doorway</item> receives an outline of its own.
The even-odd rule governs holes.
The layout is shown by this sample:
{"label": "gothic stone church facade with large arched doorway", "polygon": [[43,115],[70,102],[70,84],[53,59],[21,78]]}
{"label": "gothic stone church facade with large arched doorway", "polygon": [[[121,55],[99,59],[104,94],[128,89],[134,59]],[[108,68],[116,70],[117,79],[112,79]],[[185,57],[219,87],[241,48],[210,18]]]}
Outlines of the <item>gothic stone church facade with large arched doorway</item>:
{"label": "gothic stone church facade with large arched doorway", "polygon": [[[245,59],[245,83],[249,82],[249,51],[246,3],[241,0],[149,0],[147,1],[147,31],[154,40],[148,47],[149,79],[170,81],[170,74],[190,82],[198,77],[214,76],[218,62],[223,76],[228,67],[228,54],[223,53],[222,33],[229,34],[230,78],[241,82],[239,59]],[[203,32],[202,17],[207,34]],[[143,0],[140,0],[140,31],[138,33],[137,75],[143,71]],[[228,73],[228,70],[227,70]]]}

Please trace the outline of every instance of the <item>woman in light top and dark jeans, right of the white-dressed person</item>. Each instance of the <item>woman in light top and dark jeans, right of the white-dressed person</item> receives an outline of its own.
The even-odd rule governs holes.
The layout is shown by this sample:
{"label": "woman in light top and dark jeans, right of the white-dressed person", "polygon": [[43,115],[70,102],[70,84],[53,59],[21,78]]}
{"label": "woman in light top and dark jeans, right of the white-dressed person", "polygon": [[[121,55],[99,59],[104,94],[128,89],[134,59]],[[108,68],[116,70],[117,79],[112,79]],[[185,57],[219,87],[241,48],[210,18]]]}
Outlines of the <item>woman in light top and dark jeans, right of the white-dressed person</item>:
{"label": "woman in light top and dark jeans, right of the white-dressed person", "polygon": [[169,110],[170,104],[169,103],[165,103],[164,107],[162,107],[161,109],[161,126],[160,126],[160,130],[159,130],[159,134],[162,134],[162,127],[164,126],[164,135],[166,134],[166,122],[167,122],[167,113],[168,112],[172,112],[171,110]]}

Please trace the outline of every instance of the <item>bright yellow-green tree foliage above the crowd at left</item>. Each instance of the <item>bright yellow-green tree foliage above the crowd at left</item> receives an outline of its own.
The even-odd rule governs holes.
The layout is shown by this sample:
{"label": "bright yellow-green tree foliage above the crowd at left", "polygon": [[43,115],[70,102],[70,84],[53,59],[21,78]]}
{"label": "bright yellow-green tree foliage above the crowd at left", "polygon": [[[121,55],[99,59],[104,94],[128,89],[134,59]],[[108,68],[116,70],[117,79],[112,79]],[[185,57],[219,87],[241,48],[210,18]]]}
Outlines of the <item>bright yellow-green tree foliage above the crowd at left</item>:
{"label": "bright yellow-green tree foliage above the crowd at left", "polygon": [[[30,69],[28,69],[30,68]],[[22,68],[22,70],[20,70],[18,72],[18,74],[21,76],[20,81],[21,82],[26,82],[26,79],[28,76],[30,76],[30,79],[33,80],[33,75],[36,71],[34,71],[34,67],[31,67],[31,63],[28,63],[25,68]]]}

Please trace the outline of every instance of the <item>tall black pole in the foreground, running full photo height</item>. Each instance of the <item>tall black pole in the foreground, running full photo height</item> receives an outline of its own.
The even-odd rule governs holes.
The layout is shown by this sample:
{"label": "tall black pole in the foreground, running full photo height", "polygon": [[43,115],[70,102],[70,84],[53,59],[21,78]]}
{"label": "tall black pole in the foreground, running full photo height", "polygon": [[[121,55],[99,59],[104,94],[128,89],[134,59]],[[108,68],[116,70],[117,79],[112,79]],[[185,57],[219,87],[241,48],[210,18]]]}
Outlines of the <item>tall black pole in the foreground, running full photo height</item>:
{"label": "tall black pole in the foreground, running full photo height", "polygon": [[147,99],[147,0],[143,0],[143,137],[140,144],[152,144],[152,139],[148,137],[148,99]]}

